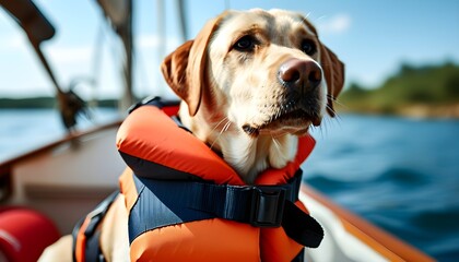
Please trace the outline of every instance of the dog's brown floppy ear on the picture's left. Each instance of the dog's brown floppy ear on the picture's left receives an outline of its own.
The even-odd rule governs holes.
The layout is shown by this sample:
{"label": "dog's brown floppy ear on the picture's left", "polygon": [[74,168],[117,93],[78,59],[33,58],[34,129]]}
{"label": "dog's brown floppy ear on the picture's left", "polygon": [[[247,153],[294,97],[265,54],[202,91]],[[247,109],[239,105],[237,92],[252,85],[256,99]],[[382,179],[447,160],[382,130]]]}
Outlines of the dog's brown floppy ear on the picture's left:
{"label": "dog's brown floppy ear on the picture's left", "polygon": [[207,84],[207,46],[216,23],[217,19],[209,21],[193,40],[178,47],[161,64],[167,84],[187,103],[190,116],[196,115],[201,104]]}

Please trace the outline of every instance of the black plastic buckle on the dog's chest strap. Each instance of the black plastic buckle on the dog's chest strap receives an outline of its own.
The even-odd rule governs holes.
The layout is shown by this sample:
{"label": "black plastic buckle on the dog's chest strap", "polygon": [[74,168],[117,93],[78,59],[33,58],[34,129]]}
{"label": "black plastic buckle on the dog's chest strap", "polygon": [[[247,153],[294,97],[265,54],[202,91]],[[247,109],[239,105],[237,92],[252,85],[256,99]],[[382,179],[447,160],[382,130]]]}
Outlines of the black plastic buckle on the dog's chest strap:
{"label": "black plastic buckle on the dog's chest strap", "polygon": [[285,203],[285,188],[254,187],[250,209],[250,225],[255,227],[280,227]]}

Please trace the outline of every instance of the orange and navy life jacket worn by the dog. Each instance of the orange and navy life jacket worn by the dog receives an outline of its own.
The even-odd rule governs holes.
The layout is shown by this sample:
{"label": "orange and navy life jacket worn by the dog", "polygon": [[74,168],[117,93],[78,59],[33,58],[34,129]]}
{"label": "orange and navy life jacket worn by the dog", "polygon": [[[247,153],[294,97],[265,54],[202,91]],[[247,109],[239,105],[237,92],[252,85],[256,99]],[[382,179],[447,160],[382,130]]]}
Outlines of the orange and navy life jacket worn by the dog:
{"label": "orange and navy life jacket worn by the dog", "polygon": [[134,108],[117,134],[129,167],[120,192],[129,211],[131,261],[303,261],[304,246],[318,247],[323,237],[298,201],[299,165],[314,139],[301,138],[293,162],[248,186],[170,118],[177,110],[155,98]]}

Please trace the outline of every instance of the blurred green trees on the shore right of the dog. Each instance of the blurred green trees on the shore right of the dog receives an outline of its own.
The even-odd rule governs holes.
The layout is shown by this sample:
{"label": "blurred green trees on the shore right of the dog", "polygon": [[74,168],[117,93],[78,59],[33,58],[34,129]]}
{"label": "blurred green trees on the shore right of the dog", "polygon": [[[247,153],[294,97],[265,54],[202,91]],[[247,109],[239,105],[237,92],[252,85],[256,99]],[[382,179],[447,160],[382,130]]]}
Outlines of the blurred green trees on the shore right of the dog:
{"label": "blurred green trees on the shore right of the dog", "polygon": [[381,86],[368,90],[352,83],[338,97],[351,111],[397,114],[413,105],[427,107],[459,104],[459,66],[402,64]]}

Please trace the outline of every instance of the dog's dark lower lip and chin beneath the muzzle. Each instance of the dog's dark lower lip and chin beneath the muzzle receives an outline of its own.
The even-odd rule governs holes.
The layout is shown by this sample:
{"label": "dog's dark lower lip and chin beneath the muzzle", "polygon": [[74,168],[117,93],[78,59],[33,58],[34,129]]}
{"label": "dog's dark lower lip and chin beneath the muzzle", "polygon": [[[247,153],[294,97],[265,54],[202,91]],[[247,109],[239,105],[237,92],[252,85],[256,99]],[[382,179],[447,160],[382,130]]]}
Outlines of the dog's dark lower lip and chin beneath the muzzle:
{"label": "dog's dark lower lip and chin beneath the muzzle", "polygon": [[310,115],[304,110],[294,110],[271,117],[269,121],[260,126],[246,123],[243,130],[250,136],[260,134],[276,136],[287,133],[301,136],[308,132],[310,126],[317,127],[320,122],[319,114]]}

